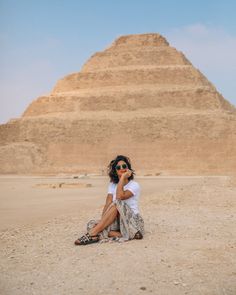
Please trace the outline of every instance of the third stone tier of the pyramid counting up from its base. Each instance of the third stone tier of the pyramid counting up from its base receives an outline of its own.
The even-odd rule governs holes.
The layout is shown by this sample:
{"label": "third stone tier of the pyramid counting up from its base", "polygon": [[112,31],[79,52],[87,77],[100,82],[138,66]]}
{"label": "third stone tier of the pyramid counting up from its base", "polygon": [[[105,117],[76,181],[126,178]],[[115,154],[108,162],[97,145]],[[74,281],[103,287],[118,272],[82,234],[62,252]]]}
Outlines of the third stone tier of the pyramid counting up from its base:
{"label": "third stone tier of the pyramid counting up from its base", "polygon": [[56,84],[53,93],[140,84],[208,86],[209,82],[189,65],[132,66],[71,74]]}

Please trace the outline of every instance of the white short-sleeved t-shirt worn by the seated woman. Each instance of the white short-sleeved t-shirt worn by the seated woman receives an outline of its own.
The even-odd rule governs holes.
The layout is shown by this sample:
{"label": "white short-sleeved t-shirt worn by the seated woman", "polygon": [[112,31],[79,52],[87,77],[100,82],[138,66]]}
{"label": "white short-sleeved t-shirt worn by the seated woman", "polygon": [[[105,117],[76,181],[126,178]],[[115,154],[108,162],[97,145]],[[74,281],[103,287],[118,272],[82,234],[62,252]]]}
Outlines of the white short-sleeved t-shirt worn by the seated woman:
{"label": "white short-sleeved t-shirt worn by the seated woman", "polygon": [[[110,182],[108,186],[108,194],[112,194],[112,201],[114,202],[116,200],[116,189],[117,189],[117,183]],[[138,208],[138,200],[140,196],[140,186],[139,184],[134,181],[130,180],[125,186],[124,191],[129,190],[131,193],[133,193],[133,196],[129,199],[123,200],[131,209],[132,211],[137,214],[139,213]]]}

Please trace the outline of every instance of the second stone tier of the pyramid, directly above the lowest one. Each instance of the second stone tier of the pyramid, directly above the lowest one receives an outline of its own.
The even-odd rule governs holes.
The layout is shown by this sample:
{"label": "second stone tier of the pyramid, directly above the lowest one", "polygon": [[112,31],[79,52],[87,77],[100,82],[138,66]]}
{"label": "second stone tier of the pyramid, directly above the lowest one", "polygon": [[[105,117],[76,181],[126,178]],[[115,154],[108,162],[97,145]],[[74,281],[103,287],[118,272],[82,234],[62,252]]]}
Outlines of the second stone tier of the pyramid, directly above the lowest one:
{"label": "second stone tier of the pyramid, directly above the lowest one", "polygon": [[71,91],[39,97],[24,117],[98,111],[149,111],[156,109],[232,110],[232,106],[211,87],[112,87]]}

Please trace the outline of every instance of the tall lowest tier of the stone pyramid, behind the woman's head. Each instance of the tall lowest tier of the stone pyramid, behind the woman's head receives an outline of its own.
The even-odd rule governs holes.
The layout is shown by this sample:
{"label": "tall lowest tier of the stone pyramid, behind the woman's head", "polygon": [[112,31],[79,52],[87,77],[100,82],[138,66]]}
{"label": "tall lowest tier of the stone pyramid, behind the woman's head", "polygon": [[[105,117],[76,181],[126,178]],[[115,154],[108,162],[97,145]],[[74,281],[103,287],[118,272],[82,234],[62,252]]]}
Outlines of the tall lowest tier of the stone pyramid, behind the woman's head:
{"label": "tall lowest tier of the stone pyramid, behind the woman's head", "polygon": [[0,135],[2,173],[102,173],[116,154],[141,173],[236,171],[236,116],[227,112],[27,117],[1,125]]}

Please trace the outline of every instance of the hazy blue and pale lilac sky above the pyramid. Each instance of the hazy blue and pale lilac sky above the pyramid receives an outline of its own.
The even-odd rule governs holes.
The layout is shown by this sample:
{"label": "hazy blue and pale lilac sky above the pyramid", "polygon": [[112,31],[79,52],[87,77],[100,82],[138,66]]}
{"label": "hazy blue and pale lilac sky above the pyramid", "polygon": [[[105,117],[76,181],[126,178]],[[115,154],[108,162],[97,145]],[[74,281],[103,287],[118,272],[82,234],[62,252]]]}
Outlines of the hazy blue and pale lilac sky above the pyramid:
{"label": "hazy blue and pale lilac sky above the pyramid", "polygon": [[160,33],[236,105],[234,0],[0,0],[0,123],[120,35]]}

